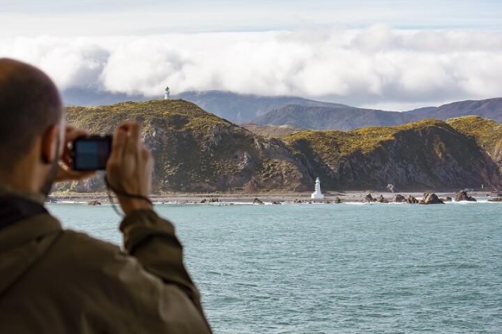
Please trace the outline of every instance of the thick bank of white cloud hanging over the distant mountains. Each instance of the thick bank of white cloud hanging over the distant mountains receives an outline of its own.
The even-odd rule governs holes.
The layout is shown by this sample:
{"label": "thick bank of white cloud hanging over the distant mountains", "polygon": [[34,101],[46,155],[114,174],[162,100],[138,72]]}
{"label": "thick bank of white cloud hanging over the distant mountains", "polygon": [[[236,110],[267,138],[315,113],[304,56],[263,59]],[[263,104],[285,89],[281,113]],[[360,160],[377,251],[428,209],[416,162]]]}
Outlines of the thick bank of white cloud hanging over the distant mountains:
{"label": "thick bank of white cloud hanging over the distant mountains", "polygon": [[0,56],[73,86],[160,96],[222,89],[352,105],[430,105],[501,96],[502,33],[363,30],[0,40]]}

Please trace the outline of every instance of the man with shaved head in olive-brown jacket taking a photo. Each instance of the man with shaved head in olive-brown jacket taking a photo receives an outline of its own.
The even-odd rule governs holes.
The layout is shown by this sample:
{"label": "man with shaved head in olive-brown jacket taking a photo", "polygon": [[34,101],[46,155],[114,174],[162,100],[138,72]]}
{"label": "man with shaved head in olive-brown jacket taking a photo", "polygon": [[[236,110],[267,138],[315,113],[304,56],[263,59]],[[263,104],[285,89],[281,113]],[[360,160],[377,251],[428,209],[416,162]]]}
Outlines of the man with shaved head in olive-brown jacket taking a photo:
{"label": "man with shaved head in olive-brown jacket taking a photo", "polygon": [[92,174],[70,169],[68,143],[85,132],[66,126],[49,77],[0,59],[0,116],[1,333],[210,333],[174,227],[149,202],[139,125],[117,128],[107,162],[124,252],[43,208],[55,181]]}

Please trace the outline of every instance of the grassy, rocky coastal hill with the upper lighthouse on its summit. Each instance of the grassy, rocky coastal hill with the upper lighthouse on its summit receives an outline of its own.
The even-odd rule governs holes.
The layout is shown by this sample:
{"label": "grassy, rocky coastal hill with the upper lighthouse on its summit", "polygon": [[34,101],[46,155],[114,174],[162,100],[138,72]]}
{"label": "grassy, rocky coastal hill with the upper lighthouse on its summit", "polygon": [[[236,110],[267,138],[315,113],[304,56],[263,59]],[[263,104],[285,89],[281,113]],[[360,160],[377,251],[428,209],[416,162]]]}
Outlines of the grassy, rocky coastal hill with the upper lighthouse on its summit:
{"label": "grassy, rocky coastal hill with the upper lighthouse on its summit", "polygon": [[[155,192],[303,191],[313,182],[303,157],[284,142],[253,135],[184,100],[68,107],[67,118],[91,133],[112,133],[127,120],[142,123],[144,142],[155,158]],[[64,188],[104,190],[98,179]]]}

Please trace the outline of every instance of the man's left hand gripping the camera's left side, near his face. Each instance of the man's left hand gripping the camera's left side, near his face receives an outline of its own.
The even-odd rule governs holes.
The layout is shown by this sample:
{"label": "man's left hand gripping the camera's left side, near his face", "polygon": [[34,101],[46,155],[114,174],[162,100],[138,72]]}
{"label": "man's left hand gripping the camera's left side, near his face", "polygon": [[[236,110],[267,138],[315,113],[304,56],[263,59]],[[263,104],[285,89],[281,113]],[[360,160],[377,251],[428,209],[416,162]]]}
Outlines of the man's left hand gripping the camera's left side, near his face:
{"label": "man's left hand gripping the camera's left side, near his face", "polygon": [[71,169],[71,155],[70,147],[68,144],[78,137],[87,135],[87,132],[82,129],[77,129],[73,126],[66,126],[66,133],[63,145],[63,154],[59,160],[59,166],[56,173],[56,182],[66,181],[81,181],[89,179],[91,176],[96,175],[96,172],[79,172]]}

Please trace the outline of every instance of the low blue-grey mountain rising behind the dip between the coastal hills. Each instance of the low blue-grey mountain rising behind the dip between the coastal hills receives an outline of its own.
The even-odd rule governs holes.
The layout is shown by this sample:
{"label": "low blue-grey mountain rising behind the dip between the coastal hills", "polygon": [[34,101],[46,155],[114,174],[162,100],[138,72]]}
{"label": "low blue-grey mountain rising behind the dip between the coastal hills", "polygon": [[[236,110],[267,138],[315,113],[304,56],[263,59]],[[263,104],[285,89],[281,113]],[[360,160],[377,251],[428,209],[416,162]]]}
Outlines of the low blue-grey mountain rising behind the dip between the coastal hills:
{"label": "low blue-grey mountain rising behind the dip between the coastal hills", "polygon": [[314,130],[353,130],[365,126],[398,126],[420,119],[420,115],[406,112],[356,107],[309,107],[287,105],[259,116],[252,123],[260,126],[298,126]]}

